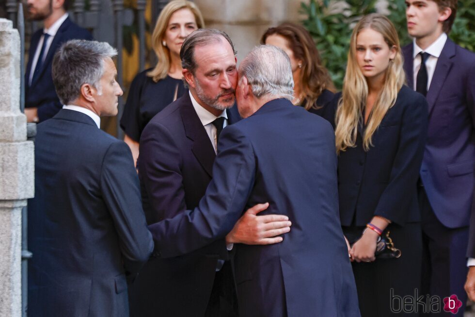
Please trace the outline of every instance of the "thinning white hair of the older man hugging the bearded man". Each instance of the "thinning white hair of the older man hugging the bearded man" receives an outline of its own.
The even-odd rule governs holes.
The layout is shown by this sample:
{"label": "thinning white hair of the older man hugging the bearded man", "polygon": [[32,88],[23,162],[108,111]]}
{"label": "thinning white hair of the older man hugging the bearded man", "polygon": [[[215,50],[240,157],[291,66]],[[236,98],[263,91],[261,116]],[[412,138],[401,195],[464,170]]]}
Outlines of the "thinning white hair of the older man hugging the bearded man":
{"label": "thinning white hair of the older man hugging the bearded man", "polygon": [[256,46],[239,66],[239,75],[246,77],[253,95],[293,99],[294,79],[288,55],[272,45]]}

